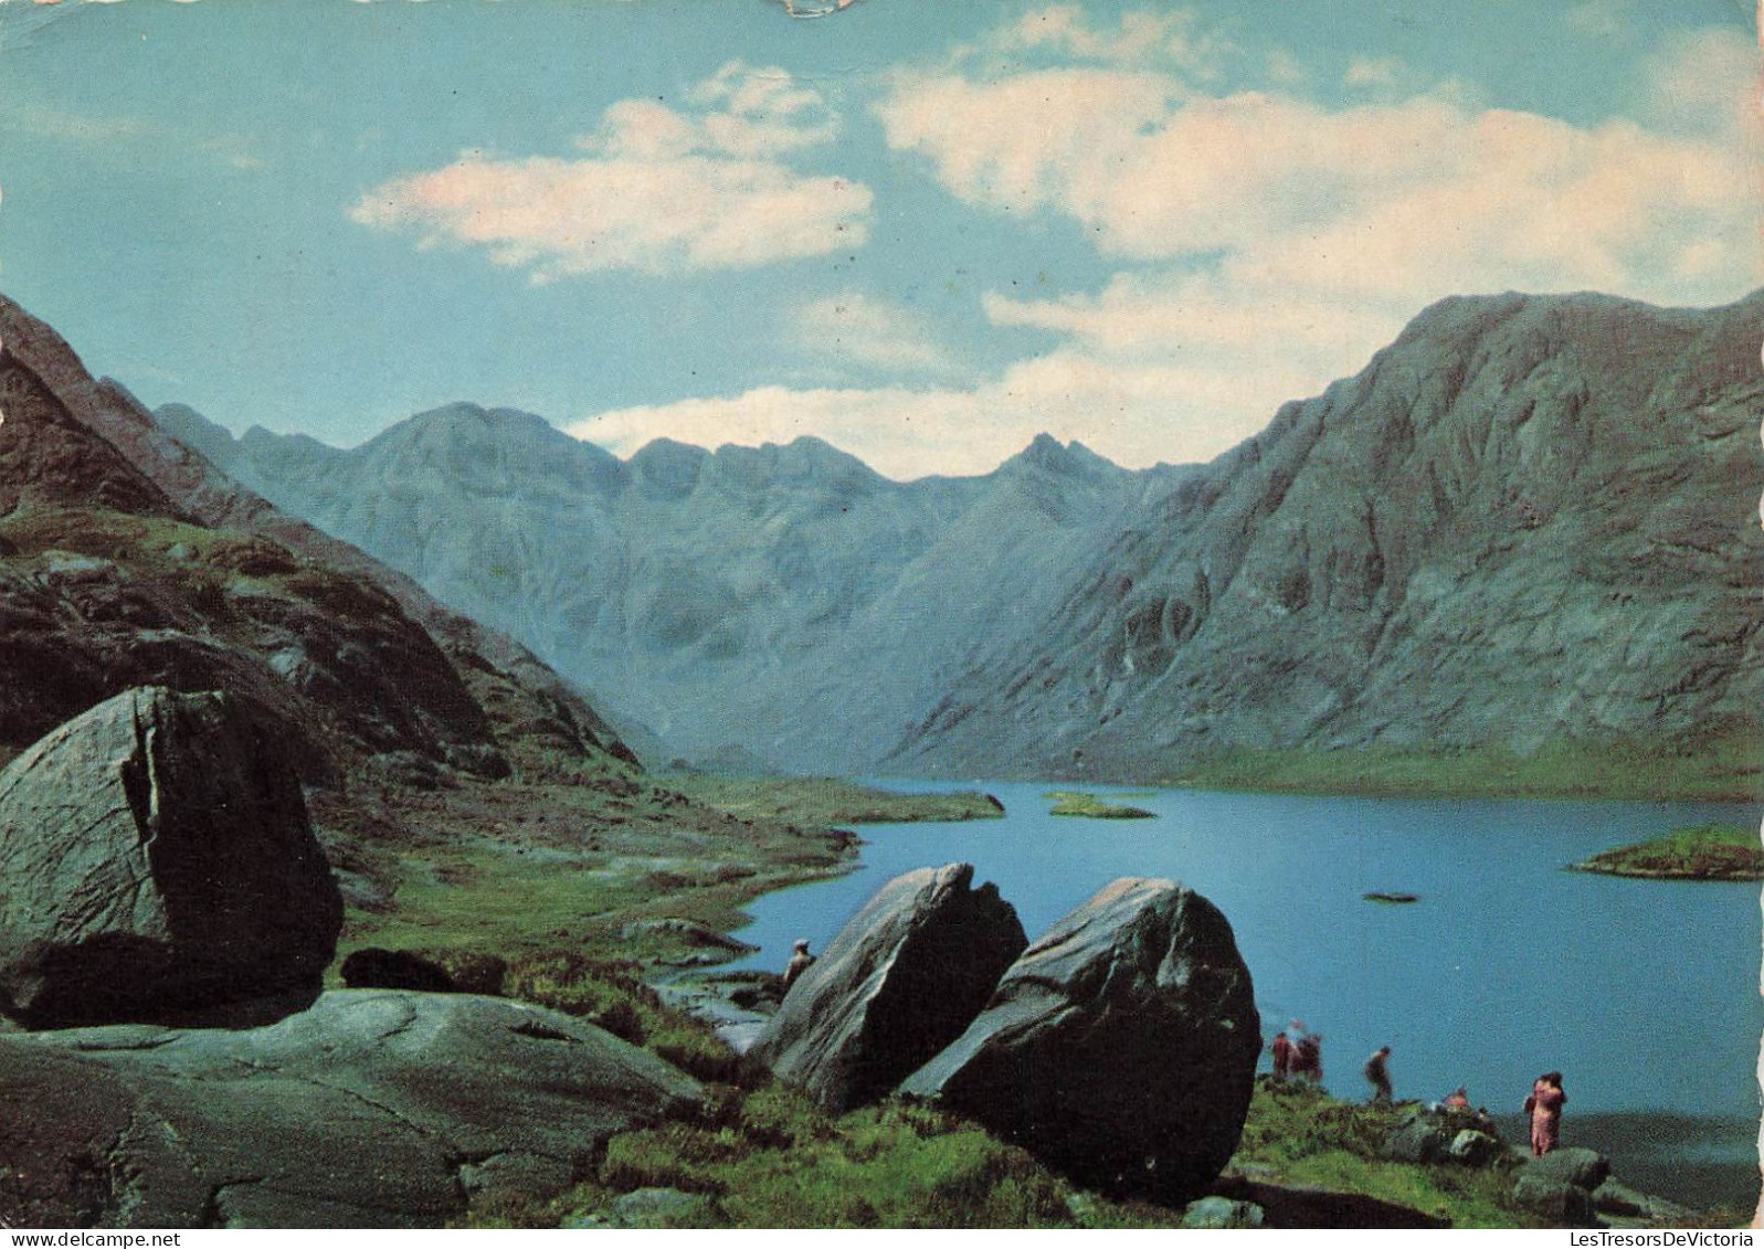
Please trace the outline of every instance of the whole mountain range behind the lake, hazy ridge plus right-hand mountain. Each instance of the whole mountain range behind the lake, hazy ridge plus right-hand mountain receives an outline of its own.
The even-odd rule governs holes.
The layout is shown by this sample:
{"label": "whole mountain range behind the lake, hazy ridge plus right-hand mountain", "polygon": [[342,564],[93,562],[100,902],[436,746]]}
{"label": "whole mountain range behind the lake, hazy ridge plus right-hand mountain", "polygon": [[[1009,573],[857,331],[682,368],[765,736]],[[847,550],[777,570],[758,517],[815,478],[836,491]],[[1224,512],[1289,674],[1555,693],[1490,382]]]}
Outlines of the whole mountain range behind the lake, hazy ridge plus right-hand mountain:
{"label": "whole mountain range behind the lake, hazy ridge plus right-hand mountain", "polygon": [[889,482],[453,406],[355,450],[157,413],[665,750],[1157,778],[1231,752],[1757,743],[1764,295],[1446,300],[1203,467]]}

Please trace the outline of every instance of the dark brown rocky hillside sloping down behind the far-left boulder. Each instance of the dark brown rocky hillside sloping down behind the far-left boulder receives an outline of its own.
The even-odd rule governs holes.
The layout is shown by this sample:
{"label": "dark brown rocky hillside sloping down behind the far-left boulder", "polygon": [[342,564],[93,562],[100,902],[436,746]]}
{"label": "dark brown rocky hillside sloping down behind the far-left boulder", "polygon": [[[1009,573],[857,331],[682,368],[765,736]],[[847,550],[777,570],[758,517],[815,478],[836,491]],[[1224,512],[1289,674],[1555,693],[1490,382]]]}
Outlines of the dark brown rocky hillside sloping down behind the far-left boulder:
{"label": "dark brown rocky hillside sloping down behind the far-left boulder", "polygon": [[609,774],[556,674],[277,512],[0,296],[0,757],[132,684],[224,688],[305,780]]}

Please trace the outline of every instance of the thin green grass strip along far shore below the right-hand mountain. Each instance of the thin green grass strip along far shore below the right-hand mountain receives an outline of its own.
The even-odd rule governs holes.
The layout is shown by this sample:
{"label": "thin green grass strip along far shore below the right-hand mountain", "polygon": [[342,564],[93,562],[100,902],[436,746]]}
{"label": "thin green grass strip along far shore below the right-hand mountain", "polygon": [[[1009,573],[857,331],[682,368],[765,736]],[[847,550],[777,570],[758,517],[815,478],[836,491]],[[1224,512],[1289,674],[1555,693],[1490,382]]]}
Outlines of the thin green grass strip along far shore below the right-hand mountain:
{"label": "thin green grass strip along far shore below the right-hand mountain", "polygon": [[1230,750],[1192,760],[1168,780],[1288,794],[1755,803],[1764,799],[1764,734],[1739,725],[1690,743],[1565,741],[1531,753],[1498,746]]}

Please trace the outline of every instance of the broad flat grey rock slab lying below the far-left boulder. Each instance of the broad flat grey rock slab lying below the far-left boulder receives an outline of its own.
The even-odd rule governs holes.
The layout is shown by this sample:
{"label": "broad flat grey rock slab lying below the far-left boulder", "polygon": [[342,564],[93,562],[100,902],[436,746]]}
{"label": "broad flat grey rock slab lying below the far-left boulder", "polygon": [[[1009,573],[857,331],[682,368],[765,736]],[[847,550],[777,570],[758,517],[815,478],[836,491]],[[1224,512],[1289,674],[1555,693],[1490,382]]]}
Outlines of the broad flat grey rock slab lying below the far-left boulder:
{"label": "broad flat grey rock slab lying below the far-left boulder", "polygon": [[566,1014],[340,990],[259,1028],[0,1036],[14,1226],[434,1226],[556,1191],[702,1087]]}

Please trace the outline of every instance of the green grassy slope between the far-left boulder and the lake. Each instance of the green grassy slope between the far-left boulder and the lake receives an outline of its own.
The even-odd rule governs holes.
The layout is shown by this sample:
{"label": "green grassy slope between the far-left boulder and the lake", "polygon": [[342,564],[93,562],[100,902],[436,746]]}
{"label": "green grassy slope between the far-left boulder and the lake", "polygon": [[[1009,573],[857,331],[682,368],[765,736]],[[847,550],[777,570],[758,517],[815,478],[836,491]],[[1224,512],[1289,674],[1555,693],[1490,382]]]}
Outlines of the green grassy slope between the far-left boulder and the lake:
{"label": "green grassy slope between the far-left boulder and the lake", "polygon": [[[319,794],[314,826],[349,901],[339,960],[365,946],[610,963],[691,954],[679,931],[746,923],[773,889],[848,871],[834,824],[1000,815],[983,794],[887,794],[833,780],[602,776],[460,782],[436,792]],[[333,970],[333,981],[335,981]]]}

